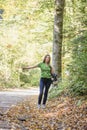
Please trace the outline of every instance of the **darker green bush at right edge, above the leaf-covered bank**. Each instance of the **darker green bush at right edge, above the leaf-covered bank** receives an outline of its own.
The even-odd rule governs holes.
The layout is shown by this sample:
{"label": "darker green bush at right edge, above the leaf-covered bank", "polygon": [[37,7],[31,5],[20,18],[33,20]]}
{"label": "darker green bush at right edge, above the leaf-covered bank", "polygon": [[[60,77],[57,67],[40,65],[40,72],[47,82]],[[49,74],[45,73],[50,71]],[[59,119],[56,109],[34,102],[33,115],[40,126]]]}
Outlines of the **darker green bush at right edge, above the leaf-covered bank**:
{"label": "darker green bush at right edge, above the leaf-covered bank", "polygon": [[72,62],[69,66],[70,91],[77,95],[87,94],[87,33],[84,32],[72,44]]}

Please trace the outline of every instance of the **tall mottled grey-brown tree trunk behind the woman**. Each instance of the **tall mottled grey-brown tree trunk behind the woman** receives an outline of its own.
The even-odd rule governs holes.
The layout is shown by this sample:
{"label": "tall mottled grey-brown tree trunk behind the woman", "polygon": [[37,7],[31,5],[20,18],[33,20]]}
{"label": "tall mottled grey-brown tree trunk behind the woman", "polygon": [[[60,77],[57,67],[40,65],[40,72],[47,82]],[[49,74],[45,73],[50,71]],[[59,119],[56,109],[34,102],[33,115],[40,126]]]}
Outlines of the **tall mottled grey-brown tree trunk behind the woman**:
{"label": "tall mottled grey-brown tree trunk behind the woman", "polygon": [[55,18],[53,33],[53,68],[61,78],[62,73],[62,39],[63,39],[63,12],[65,0],[55,0]]}

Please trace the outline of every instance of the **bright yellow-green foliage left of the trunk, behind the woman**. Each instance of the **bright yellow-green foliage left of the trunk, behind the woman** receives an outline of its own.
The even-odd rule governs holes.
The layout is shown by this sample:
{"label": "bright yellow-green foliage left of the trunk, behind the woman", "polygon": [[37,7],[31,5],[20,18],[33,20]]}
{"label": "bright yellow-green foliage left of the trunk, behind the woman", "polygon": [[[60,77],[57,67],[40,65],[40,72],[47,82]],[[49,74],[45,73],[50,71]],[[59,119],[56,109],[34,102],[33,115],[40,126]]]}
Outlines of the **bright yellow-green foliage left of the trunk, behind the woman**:
{"label": "bright yellow-green foliage left of the trunk, behind the woman", "polygon": [[37,64],[52,50],[52,2],[44,11],[42,4],[39,0],[0,0],[4,10],[0,21],[0,86],[38,86],[39,70],[22,73],[21,68]]}

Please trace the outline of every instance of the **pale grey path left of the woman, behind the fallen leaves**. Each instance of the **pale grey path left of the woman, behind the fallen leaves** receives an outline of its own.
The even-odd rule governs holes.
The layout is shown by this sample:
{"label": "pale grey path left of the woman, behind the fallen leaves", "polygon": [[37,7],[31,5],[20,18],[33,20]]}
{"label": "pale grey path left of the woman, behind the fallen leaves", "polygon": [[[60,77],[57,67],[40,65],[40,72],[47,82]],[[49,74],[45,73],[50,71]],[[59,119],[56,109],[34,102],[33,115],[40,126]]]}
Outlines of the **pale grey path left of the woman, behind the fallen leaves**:
{"label": "pale grey path left of the woman, behind the fallen leaves", "polygon": [[8,91],[0,91],[0,111],[6,112],[12,106],[26,100],[31,95],[37,95],[38,88],[30,89],[13,89]]}

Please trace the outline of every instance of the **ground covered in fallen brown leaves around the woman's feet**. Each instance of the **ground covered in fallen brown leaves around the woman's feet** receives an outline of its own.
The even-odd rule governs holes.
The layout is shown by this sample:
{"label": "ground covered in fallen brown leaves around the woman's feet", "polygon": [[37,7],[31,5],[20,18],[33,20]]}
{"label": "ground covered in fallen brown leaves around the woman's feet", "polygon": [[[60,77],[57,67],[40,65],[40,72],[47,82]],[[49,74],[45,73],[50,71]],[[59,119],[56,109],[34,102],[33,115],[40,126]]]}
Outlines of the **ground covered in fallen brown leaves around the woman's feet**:
{"label": "ground covered in fallen brown leaves around the woman's feet", "polygon": [[87,130],[86,99],[62,95],[38,109],[37,98],[30,96],[0,115],[8,124],[8,129],[0,130]]}

